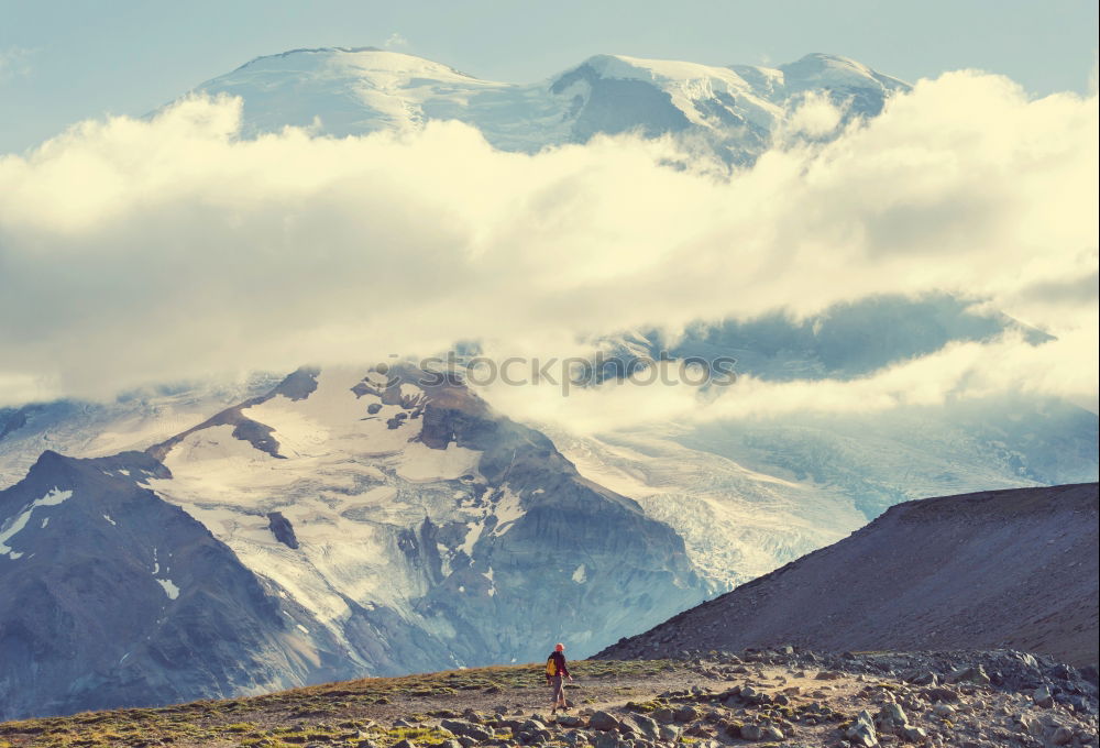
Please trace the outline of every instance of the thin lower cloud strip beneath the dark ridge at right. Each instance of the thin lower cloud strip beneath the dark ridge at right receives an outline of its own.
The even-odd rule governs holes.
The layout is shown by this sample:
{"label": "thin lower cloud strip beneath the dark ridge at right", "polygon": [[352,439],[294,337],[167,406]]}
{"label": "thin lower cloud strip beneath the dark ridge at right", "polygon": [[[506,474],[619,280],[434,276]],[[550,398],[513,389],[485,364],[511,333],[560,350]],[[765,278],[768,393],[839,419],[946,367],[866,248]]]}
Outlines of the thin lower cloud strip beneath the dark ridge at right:
{"label": "thin lower cloud strip beneath the dark ridge at right", "polygon": [[[593,388],[508,387],[480,392],[498,409],[524,420],[580,433],[652,424],[783,418],[800,415],[877,414],[894,408],[949,405],[1007,393],[1074,398],[1096,411],[1096,319],[1057,341],[1031,345],[1007,336],[990,343],[955,342],[936,353],[893,364],[855,380],[768,382],[741,376],[735,384],[700,391],[681,384],[614,381]],[[675,381],[674,376],[666,377]],[[639,377],[649,382],[649,377]]]}

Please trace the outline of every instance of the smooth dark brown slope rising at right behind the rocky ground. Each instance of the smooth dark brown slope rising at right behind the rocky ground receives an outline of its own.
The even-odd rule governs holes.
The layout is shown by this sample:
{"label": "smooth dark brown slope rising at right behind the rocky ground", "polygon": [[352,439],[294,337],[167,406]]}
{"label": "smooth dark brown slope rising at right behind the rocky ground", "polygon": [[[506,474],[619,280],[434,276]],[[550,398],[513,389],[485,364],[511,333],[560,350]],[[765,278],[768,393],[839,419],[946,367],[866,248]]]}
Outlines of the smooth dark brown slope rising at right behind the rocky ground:
{"label": "smooth dark brown slope rising at right behind the rocky ground", "polygon": [[1096,483],[909,502],[597,657],[792,642],[1012,647],[1096,664],[1098,557]]}

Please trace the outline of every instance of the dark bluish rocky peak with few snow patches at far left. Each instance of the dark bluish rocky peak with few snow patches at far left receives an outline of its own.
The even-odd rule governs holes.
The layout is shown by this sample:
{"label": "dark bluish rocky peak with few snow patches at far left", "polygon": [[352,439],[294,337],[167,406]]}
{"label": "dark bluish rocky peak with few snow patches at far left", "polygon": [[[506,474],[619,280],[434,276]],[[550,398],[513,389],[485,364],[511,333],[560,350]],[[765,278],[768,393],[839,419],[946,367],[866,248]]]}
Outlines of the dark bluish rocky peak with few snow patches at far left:
{"label": "dark bluish rocky peak with few snow patches at far left", "polygon": [[0,492],[0,719],[342,672],[339,648],[307,612],[145,485],[166,475],[140,452],[45,452]]}

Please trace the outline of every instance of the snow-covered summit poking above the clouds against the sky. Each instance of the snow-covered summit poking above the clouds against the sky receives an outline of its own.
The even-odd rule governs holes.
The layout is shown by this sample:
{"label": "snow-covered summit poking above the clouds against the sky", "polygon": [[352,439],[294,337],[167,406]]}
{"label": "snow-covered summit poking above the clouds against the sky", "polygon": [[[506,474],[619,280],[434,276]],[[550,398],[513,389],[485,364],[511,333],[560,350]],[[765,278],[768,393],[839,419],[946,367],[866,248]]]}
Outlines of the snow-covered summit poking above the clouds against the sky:
{"label": "snow-covered summit poking above the clouds against the sky", "polygon": [[747,163],[789,124],[807,94],[827,97],[844,121],[878,114],[887,98],[908,88],[855,61],[822,54],[777,68],[596,55],[548,80],[517,85],[398,52],[329,47],[258,57],[197,90],[240,96],[244,131],[252,135],[288,124],[342,136],[459,120],[507,151],[629,131],[690,135],[727,163]]}

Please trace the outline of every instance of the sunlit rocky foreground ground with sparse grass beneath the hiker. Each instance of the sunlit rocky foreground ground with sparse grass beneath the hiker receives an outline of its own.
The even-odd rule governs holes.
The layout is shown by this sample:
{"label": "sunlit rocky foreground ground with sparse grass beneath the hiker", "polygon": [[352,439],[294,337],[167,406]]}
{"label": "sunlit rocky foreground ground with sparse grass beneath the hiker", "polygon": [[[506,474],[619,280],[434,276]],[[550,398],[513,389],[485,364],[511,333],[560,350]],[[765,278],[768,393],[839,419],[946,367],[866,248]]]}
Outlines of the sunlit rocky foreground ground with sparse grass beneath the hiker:
{"label": "sunlit rocky foreground ground with sparse grass beneath the hiker", "polygon": [[1014,651],[785,647],[574,662],[547,714],[538,666],[371,679],[254,698],[0,725],[0,747],[718,748],[1097,744],[1096,672]]}

